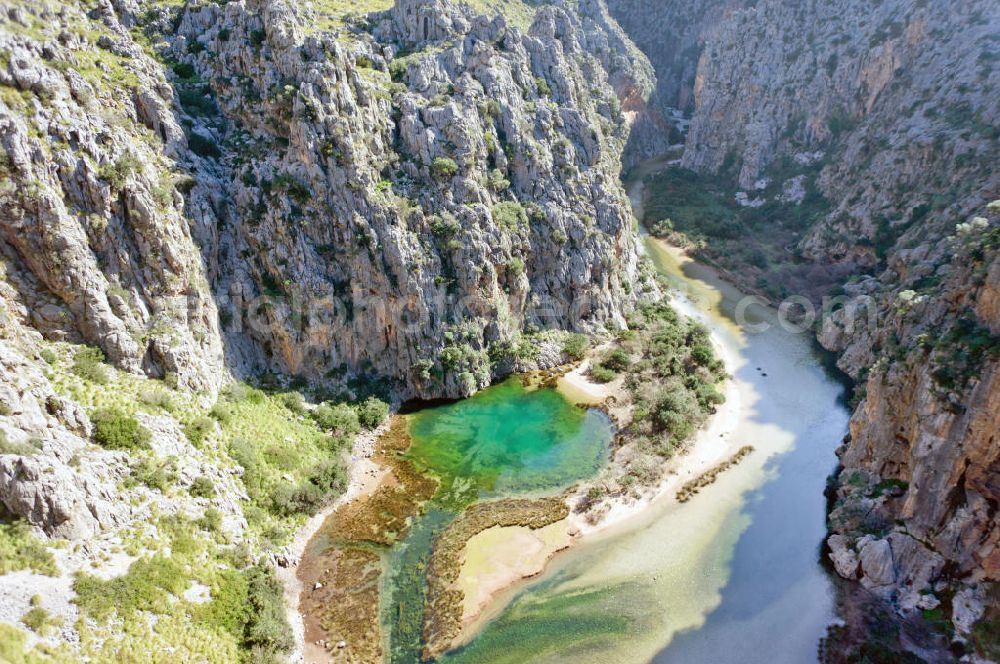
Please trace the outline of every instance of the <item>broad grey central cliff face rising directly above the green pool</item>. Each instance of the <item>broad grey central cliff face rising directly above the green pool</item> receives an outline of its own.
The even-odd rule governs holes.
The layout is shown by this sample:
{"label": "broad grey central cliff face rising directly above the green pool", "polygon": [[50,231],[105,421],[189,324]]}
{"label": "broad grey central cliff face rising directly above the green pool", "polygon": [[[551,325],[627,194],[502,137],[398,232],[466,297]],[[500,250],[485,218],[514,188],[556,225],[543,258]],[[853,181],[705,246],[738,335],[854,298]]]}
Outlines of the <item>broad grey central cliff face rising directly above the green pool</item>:
{"label": "broad grey central cliff face rising directly above the green pool", "polygon": [[557,8],[528,34],[441,2],[339,35],[297,11],[190,8],[173,44],[221,110],[196,130],[233,146],[217,290],[241,362],[460,396],[525,324],[622,320],[626,129],[585,48],[627,70],[620,36]]}

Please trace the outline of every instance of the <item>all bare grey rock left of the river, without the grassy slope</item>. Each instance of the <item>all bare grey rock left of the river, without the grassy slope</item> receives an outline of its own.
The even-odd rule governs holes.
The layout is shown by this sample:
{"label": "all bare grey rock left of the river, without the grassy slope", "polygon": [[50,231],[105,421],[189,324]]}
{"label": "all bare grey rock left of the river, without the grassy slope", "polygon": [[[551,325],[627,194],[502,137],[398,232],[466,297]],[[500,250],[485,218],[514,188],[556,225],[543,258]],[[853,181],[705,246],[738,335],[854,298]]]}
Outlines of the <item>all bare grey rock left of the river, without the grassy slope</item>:
{"label": "all bare grey rock left of the river, without the grassy slope", "polygon": [[[144,514],[43,338],[206,399],[230,370],[460,396],[562,361],[543,337],[519,354],[526,328],[621,324],[655,289],[617,177],[617,95],[648,95],[651,70],[603,2],[540,9],[528,32],[427,0],[315,18],[282,0],[3,8],[0,501],[40,531]],[[141,423],[238,524],[232,478],[170,417]]]}

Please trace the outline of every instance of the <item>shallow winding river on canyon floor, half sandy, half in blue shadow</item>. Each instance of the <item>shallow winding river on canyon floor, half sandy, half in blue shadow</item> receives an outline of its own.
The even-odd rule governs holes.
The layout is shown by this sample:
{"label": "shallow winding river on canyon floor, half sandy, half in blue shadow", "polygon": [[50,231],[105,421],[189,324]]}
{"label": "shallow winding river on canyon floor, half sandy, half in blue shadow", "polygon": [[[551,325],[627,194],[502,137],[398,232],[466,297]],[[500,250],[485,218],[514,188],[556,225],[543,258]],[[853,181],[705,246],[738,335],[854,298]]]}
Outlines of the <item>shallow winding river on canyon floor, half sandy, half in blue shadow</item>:
{"label": "shallow winding river on canyon floor, half sandy, half in blue shadow", "polygon": [[[640,217],[645,172],[627,183]],[[660,500],[558,556],[447,662],[799,664],[835,620],[820,547],[849,417],[842,385],[809,333],[757,304],[738,324],[740,292],[644,242],[675,306],[725,357],[740,404],[731,435],[756,451],[690,502]]]}

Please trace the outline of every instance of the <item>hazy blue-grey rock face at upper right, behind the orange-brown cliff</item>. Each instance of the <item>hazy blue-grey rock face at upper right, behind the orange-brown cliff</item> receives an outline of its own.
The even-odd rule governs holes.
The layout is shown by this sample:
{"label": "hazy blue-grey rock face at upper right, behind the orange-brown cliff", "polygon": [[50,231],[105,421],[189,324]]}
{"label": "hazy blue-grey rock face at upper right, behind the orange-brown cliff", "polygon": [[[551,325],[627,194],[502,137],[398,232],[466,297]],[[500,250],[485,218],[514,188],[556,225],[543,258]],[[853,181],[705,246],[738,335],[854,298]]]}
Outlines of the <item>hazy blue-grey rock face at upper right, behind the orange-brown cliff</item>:
{"label": "hazy blue-grey rock face at upper right, behind the orange-brown cliff", "polygon": [[799,249],[873,265],[929,212],[962,218],[996,190],[998,30],[1000,9],[976,0],[735,11],[699,62],[682,165],[731,169],[749,188],[820,151],[817,183],[836,204]]}

